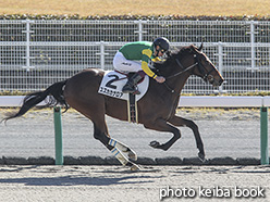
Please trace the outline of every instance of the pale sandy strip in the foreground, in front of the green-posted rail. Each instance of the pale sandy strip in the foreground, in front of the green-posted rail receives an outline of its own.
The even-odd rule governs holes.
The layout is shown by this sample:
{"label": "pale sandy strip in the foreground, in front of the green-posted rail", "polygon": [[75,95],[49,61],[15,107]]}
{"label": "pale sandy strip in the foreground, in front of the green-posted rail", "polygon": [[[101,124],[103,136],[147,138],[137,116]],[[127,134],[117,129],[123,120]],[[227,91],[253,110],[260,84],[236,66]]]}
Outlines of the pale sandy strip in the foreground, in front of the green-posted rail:
{"label": "pale sandy strip in the foreground, in front of the green-posted rail", "polygon": [[135,173],[121,166],[1,166],[0,201],[268,202],[269,173],[270,166],[148,166]]}

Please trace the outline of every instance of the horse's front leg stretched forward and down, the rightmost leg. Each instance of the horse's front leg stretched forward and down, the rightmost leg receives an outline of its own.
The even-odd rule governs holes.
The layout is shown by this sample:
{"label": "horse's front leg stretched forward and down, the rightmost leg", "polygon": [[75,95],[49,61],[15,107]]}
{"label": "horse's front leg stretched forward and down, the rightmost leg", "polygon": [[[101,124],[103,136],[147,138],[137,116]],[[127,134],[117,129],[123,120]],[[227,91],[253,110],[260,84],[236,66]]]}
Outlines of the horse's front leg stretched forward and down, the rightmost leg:
{"label": "horse's front leg stretched forward and down, the rightmost leg", "polygon": [[193,130],[196,140],[196,146],[199,150],[198,156],[201,161],[205,161],[205,149],[204,149],[202,140],[199,135],[198,126],[193,121],[185,119],[176,115],[172,116],[168,122],[174,126],[187,126]]}

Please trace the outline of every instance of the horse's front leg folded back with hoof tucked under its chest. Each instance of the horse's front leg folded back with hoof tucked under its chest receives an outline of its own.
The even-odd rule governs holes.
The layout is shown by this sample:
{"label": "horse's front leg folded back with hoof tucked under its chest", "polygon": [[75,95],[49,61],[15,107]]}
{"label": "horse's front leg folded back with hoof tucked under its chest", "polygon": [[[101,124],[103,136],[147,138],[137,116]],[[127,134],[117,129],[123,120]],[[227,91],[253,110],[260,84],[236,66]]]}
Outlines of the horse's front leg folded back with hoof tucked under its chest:
{"label": "horse's front leg folded back with hoof tucked under its chest", "polygon": [[156,119],[156,122],[145,123],[145,128],[154,129],[158,131],[170,131],[173,134],[173,137],[165,143],[160,144],[158,141],[151,141],[150,146],[156,149],[162,149],[167,151],[177,139],[181,138],[180,130],[174,126],[167,123],[167,121],[162,118]]}

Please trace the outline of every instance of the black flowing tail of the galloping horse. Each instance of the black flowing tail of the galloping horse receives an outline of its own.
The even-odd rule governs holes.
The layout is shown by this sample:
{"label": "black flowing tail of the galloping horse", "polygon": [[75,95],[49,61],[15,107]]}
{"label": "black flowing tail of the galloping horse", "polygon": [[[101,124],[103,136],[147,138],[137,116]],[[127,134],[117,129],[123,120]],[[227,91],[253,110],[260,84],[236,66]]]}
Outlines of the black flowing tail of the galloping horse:
{"label": "black flowing tail of the galloping horse", "polygon": [[[23,105],[21,106],[20,111],[15,114],[11,114],[3,118],[2,121],[8,121],[11,118],[20,117],[24,115],[28,110],[40,103],[45,100],[46,104],[41,108],[52,106],[57,104],[61,104],[65,106],[65,111],[69,109],[64,96],[63,96],[63,87],[65,86],[66,80],[54,83],[53,85],[49,86],[44,91],[37,91],[27,94],[23,100]],[[49,99],[46,99],[47,96]],[[64,111],[64,112],[65,112]]]}

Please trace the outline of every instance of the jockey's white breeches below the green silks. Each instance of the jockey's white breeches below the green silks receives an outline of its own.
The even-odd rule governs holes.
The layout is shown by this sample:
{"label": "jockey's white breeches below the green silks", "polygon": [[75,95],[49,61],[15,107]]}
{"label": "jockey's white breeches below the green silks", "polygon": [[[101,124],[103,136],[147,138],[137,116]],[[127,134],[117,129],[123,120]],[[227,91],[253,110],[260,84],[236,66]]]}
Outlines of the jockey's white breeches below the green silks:
{"label": "jockey's white breeches below the green silks", "polygon": [[114,70],[123,73],[135,73],[142,71],[142,63],[138,61],[126,60],[122,52],[116,52],[113,58]]}

